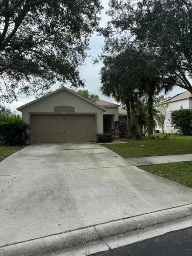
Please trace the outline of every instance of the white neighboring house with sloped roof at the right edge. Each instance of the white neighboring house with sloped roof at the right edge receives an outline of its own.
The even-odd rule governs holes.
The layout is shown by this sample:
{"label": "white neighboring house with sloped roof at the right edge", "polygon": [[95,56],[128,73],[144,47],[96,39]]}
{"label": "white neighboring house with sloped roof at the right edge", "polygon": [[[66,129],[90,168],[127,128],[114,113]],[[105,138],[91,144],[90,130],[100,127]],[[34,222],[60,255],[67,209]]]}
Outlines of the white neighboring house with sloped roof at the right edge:
{"label": "white neighboring house with sloped roof at the right edge", "polygon": [[[173,110],[179,110],[181,106],[183,108],[192,109],[192,94],[189,91],[184,91],[180,94],[173,96],[172,98],[169,98],[167,102],[169,102],[169,107],[165,120],[165,132],[175,133],[177,132],[177,130],[174,130],[174,128],[171,126],[171,112]],[[156,129],[162,132],[159,127],[157,127]]]}

